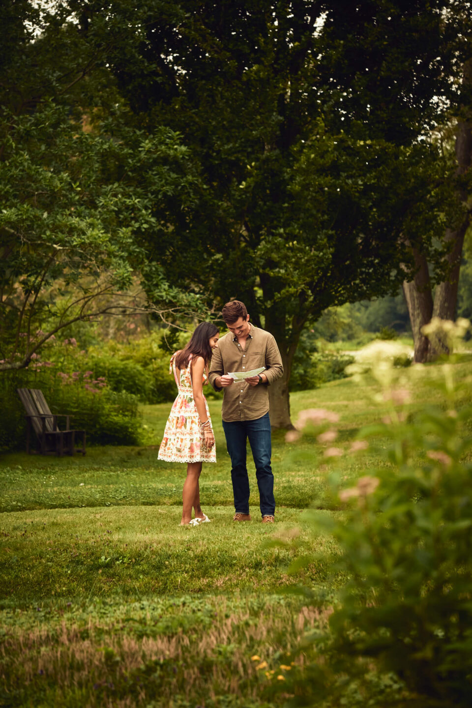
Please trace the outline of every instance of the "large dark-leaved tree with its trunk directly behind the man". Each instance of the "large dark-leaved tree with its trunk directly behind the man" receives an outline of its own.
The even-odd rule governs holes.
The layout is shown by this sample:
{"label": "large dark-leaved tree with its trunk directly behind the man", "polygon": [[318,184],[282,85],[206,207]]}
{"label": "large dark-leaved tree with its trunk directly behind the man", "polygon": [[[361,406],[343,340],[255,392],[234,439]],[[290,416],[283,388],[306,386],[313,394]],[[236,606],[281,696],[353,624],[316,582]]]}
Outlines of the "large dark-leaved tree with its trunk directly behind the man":
{"label": "large dark-leaved tree with its trunk directly behind the man", "polygon": [[[425,139],[459,45],[447,1],[263,0],[81,6],[136,120],[183,135],[205,190],[167,239],[143,234],[172,282],[243,299],[274,333],[289,425],[299,335],[333,304],[396,291],[444,231],[447,161]],[[447,13],[446,13],[447,14]],[[103,32],[106,30],[107,35]]]}

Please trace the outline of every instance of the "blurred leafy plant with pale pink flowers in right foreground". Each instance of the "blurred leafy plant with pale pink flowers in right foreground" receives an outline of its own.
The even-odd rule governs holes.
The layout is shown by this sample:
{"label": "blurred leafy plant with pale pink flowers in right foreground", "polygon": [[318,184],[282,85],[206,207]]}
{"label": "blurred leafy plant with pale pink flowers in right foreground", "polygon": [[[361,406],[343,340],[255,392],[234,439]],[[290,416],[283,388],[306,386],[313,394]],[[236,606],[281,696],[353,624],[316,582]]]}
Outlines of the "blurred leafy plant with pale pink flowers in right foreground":
{"label": "blurred leafy plant with pale pink flowers in right foreground", "polygon": [[[453,344],[470,323],[436,321],[428,336],[439,327]],[[297,705],[470,705],[472,377],[457,385],[447,362],[405,372],[393,366],[400,347],[372,343],[351,365],[388,414],[360,430],[349,448],[335,447],[330,411],[310,409],[299,417],[298,426],[327,445],[321,469],[333,501],[345,510],[341,519],[311,512],[313,535],[334,537],[340,555],[332,573],[348,580],[334,599],[324,598],[332,608],[326,629],[307,633],[294,651],[293,658],[304,656],[303,666],[297,661],[283,680],[267,679]],[[442,407],[408,406],[415,377],[427,377],[442,392]],[[291,431],[287,440],[302,434]],[[383,462],[345,488],[336,461],[362,455],[376,441]],[[298,559],[292,572],[313,560]],[[323,602],[319,593],[305,592],[313,605]]]}

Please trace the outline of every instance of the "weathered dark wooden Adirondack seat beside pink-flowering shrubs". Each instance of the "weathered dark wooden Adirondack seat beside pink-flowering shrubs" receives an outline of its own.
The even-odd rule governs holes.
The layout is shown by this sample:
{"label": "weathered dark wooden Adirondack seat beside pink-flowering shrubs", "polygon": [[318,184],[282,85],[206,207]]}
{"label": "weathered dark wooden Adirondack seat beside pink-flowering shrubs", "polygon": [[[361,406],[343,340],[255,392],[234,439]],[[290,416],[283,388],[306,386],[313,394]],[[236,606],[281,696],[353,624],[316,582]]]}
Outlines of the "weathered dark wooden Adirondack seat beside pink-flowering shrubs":
{"label": "weathered dark wooden Adirondack seat beside pink-flowering shrubs", "polygon": [[[58,456],[74,455],[81,452],[85,455],[85,430],[69,430],[69,418],[65,415],[53,415],[40,389],[17,389],[18,396],[26,411],[26,452],[30,452],[31,430],[38,438],[38,450],[41,455],[52,453]],[[66,429],[59,430],[57,418],[66,419]],[[81,447],[76,448],[76,435],[81,438]]]}

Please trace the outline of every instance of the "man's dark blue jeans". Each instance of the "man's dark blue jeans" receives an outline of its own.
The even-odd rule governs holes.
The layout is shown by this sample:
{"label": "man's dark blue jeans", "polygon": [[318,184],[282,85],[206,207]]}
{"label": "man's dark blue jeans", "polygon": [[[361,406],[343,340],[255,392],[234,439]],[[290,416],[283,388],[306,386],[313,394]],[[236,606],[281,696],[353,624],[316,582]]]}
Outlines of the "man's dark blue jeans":
{"label": "man's dark blue jeans", "polygon": [[234,508],[236,513],[249,513],[249,478],[246,467],[246,440],[253,452],[255,477],[258,480],[260,513],[274,515],[274,475],[270,467],[272,446],[270,440],[270,418],[265,413],[255,421],[223,421],[226,448],[231,457],[231,481],[233,482]]}

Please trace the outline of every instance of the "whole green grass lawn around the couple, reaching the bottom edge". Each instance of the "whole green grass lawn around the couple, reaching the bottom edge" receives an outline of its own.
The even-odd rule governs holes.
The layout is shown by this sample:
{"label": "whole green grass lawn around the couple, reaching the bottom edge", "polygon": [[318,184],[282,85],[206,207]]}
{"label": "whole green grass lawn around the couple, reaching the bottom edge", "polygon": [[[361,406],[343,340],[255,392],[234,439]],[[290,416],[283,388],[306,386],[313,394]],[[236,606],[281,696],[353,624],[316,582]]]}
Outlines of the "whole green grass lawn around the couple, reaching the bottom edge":
{"label": "whole green grass lawn around the couple, reaching the bottom edge", "polygon": [[[453,367],[466,381],[470,362]],[[439,392],[405,370],[414,411]],[[464,388],[470,400],[470,387]],[[321,407],[340,415],[336,445],[345,479],[379,464],[379,447],[350,455],[359,428],[386,404],[374,383],[343,379],[292,395],[292,418]],[[252,523],[232,522],[229,457],[220,403],[209,401],[217,464],[203,467],[202,508],[212,519],[180,527],[185,465],[159,462],[170,406],[143,406],[147,445],[91,447],[85,457],[0,458],[0,705],[269,708],[274,683],[291,670],[304,631],[326,622],[289,573],[310,554],[306,586],[329,598],[337,550],[313,537],[304,509],[340,515],[326,491],[327,444],[312,435],[289,445],[273,435],[277,523],[260,523],[251,461]],[[288,539],[294,543],[285,544]],[[292,590],[292,592],[287,592]],[[300,661],[297,658],[296,661]]]}

